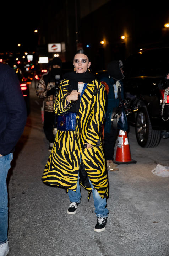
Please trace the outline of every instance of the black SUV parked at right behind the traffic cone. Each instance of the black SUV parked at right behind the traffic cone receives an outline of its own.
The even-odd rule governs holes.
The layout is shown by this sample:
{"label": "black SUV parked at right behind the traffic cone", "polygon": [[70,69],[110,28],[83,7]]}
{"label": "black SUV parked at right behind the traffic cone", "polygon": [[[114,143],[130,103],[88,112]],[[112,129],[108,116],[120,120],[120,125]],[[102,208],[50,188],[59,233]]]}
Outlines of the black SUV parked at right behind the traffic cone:
{"label": "black SUV parked at right behind the traffic cone", "polygon": [[[135,125],[136,138],[140,146],[155,147],[161,137],[169,137],[169,120],[161,116],[165,76],[169,73],[169,48],[145,49],[128,57],[124,65],[125,98],[131,100],[135,112],[127,116]],[[169,116],[169,95],[165,103],[163,118]]]}

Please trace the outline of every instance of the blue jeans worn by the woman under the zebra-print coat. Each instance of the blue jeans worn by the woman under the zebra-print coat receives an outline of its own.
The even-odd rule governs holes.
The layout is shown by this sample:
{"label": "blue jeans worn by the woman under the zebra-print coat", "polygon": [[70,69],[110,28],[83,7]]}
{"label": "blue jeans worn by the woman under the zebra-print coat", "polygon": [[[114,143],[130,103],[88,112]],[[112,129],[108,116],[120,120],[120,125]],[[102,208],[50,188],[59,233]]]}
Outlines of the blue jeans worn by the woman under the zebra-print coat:
{"label": "blue jeans worn by the woman under the zebra-print coat", "polygon": [[[81,158],[80,158],[80,162],[81,162]],[[96,188],[94,188],[92,182],[89,180],[91,188],[92,188],[92,192],[93,192],[93,200],[94,200],[94,207],[95,207],[95,213],[97,217],[108,217],[108,209],[105,208],[106,207],[106,198],[101,198],[99,193],[97,192]],[[77,181],[77,188],[76,191],[73,190],[68,190],[68,195],[69,195],[69,199],[70,202],[76,202],[76,203],[80,203],[80,199],[81,199],[81,191],[80,191],[80,184],[79,184],[79,177],[78,177],[78,181]]]}

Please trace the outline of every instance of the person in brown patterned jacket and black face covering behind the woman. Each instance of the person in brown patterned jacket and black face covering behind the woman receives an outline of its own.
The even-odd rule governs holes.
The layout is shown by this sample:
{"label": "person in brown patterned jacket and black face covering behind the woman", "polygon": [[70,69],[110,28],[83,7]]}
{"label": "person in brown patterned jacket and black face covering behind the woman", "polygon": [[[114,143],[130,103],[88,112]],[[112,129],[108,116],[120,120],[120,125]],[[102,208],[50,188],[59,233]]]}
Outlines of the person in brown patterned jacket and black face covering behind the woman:
{"label": "person in brown patterned jacket and black face covering behind the woman", "polygon": [[53,128],[56,123],[56,114],[54,113],[54,103],[58,92],[59,83],[62,79],[62,61],[55,57],[51,61],[51,70],[47,75],[43,75],[38,83],[36,95],[44,99],[44,123],[43,129],[47,140],[49,141],[48,151],[51,152],[55,136]]}

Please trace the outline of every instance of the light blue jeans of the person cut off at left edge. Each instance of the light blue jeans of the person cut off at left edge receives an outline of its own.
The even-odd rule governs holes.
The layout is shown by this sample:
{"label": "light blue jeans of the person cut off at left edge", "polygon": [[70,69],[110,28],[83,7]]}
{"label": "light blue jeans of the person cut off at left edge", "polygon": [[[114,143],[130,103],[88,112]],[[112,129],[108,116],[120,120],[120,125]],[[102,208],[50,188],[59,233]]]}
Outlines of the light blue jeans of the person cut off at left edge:
{"label": "light blue jeans of the person cut off at left edge", "polygon": [[6,177],[11,167],[13,154],[0,156],[0,244],[8,240],[8,194]]}

